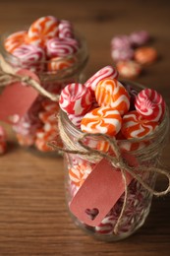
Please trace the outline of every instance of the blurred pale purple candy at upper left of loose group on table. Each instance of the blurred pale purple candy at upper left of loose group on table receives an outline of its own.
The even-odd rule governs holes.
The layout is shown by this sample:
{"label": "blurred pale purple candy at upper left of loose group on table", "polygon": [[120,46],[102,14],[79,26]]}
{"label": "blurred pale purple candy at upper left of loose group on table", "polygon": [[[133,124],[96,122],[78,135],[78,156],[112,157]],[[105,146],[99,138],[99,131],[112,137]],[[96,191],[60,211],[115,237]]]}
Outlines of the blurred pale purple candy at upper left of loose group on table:
{"label": "blurred pale purple candy at upper left of loose group on table", "polygon": [[132,42],[128,35],[120,34],[116,35],[111,39],[111,47],[112,48],[131,48]]}

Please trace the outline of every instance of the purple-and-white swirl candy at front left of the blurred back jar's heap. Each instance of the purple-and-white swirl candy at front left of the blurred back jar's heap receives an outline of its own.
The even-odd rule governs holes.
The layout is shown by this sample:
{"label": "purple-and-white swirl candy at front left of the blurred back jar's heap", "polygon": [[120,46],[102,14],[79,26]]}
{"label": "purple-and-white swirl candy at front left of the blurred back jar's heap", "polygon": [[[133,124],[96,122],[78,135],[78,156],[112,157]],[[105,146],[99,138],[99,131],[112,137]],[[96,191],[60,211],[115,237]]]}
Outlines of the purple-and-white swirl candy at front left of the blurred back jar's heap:
{"label": "purple-and-white swirl candy at front left of the blurred back jar's heap", "polygon": [[45,52],[33,44],[23,44],[13,51],[13,55],[19,59],[19,66],[30,71],[40,72],[44,70]]}

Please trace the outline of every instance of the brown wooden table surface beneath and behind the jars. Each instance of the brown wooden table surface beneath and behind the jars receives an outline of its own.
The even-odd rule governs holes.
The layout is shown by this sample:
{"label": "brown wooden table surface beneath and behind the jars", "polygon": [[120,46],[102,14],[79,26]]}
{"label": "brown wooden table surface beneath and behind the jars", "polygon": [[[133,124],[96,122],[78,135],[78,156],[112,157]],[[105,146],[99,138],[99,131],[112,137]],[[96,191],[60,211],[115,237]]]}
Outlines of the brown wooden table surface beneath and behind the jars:
{"label": "brown wooden table surface beneath and behind the jars", "polygon": [[[170,106],[169,1],[20,1],[1,0],[0,32],[54,15],[74,23],[84,33],[90,77],[113,62],[110,40],[118,33],[147,30],[159,60],[136,81],[158,90]],[[9,127],[7,127],[9,128]],[[163,153],[170,166],[170,144]],[[9,129],[9,151],[0,158],[0,256],[168,256],[170,255],[170,197],[154,198],[142,228],[126,240],[104,243],[87,236],[72,223],[65,205],[62,158],[42,157],[18,146]],[[158,180],[158,187],[166,185]]]}

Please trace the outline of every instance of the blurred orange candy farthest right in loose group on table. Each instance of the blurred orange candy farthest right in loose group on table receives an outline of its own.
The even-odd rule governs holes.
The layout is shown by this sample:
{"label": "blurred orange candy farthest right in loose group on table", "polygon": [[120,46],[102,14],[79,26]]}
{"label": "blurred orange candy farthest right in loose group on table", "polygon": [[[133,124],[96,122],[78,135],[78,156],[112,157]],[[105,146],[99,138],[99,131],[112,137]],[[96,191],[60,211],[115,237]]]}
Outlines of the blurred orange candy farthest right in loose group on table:
{"label": "blurred orange candy farthest right in loose group on table", "polygon": [[156,61],[157,51],[153,47],[139,47],[135,50],[134,58],[138,63],[148,65]]}

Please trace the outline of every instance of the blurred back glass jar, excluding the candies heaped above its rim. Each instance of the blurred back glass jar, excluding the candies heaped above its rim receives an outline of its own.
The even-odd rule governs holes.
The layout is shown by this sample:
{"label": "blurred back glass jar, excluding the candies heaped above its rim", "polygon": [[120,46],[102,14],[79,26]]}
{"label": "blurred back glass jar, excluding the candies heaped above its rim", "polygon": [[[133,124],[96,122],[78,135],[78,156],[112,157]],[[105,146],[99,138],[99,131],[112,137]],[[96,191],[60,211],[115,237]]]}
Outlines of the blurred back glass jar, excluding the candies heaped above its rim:
{"label": "blurred back glass jar, excluding the candies heaped above its rim", "polygon": [[[4,41],[9,34],[7,32],[1,35],[0,51],[5,60],[16,69],[25,69],[21,60],[4,47]],[[83,71],[88,59],[88,52],[85,37],[79,32],[75,33],[75,38],[79,41],[80,47],[74,54],[66,57],[59,57],[56,60],[49,60],[38,63],[38,67],[44,69],[34,70],[33,62],[29,63],[29,71],[38,76],[40,85],[48,92],[59,95],[61,90],[73,82],[81,82],[84,79]],[[50,68],[50,71],[47,67]],[[55,67],[60,66],[60,68]],[[47,142],[58,136],[56,126],[56,114],[58,112],[58,102],[53,102],[45,96],[37,96],[28,112],[13,125],[13,130],[21,146],[37,149],[40,152],[51,152]]]}

